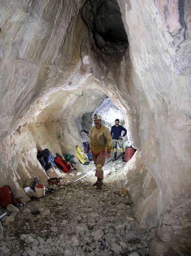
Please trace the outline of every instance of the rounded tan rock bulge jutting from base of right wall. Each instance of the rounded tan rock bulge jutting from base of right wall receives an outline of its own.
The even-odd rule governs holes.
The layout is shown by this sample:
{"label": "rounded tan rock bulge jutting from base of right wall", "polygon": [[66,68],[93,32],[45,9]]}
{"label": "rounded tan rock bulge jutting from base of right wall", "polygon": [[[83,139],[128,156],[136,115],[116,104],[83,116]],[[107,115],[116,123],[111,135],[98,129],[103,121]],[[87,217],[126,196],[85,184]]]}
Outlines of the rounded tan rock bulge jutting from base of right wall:
{"label": "rounded tan rock bulge jutting from base of right wall", "polygon": [[125,166],[126,182],[135,204],[134,211],[142,228],[153,228],[157,223],[157,200],[159,189],[156,181],[144,165],[141,152],[136,152]]}

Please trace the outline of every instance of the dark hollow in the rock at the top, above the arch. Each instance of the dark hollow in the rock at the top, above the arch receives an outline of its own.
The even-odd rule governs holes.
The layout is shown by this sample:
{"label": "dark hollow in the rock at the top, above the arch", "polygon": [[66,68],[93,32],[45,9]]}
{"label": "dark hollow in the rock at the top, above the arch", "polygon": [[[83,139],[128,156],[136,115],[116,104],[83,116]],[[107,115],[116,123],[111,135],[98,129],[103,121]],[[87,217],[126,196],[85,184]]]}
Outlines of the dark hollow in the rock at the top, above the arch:
{"label": "dark hollow in the rock at the top, above the arch", "polygon": [[106,55],[123,54],[128,48],[128,38],[122,22],[117,0],[87,0],[81,10],[90,38]]}

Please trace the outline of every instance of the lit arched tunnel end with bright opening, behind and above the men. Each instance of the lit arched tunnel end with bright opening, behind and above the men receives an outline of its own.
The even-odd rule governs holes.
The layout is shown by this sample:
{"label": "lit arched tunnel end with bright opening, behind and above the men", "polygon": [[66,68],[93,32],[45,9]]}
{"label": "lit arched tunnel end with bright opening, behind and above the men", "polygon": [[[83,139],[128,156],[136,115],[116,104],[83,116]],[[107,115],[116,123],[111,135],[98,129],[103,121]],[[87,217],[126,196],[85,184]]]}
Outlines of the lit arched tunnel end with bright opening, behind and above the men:
{"label": "lit arched tunnel end with bright opening, behind and above the men", "polygon": [[93,125],[93,114],[100,114],[102,123],[110,130],[115,119],[120,119],[120,124],[126,128],[127,120],[122,110],[97,88],[50,95],[42,111],[35,119],[28,121],[28,126],[35,145],[42,149],[50,148],[53,155],[56,152],[73,154],[77,144],[83,146],[82,132],[89,133]]}

